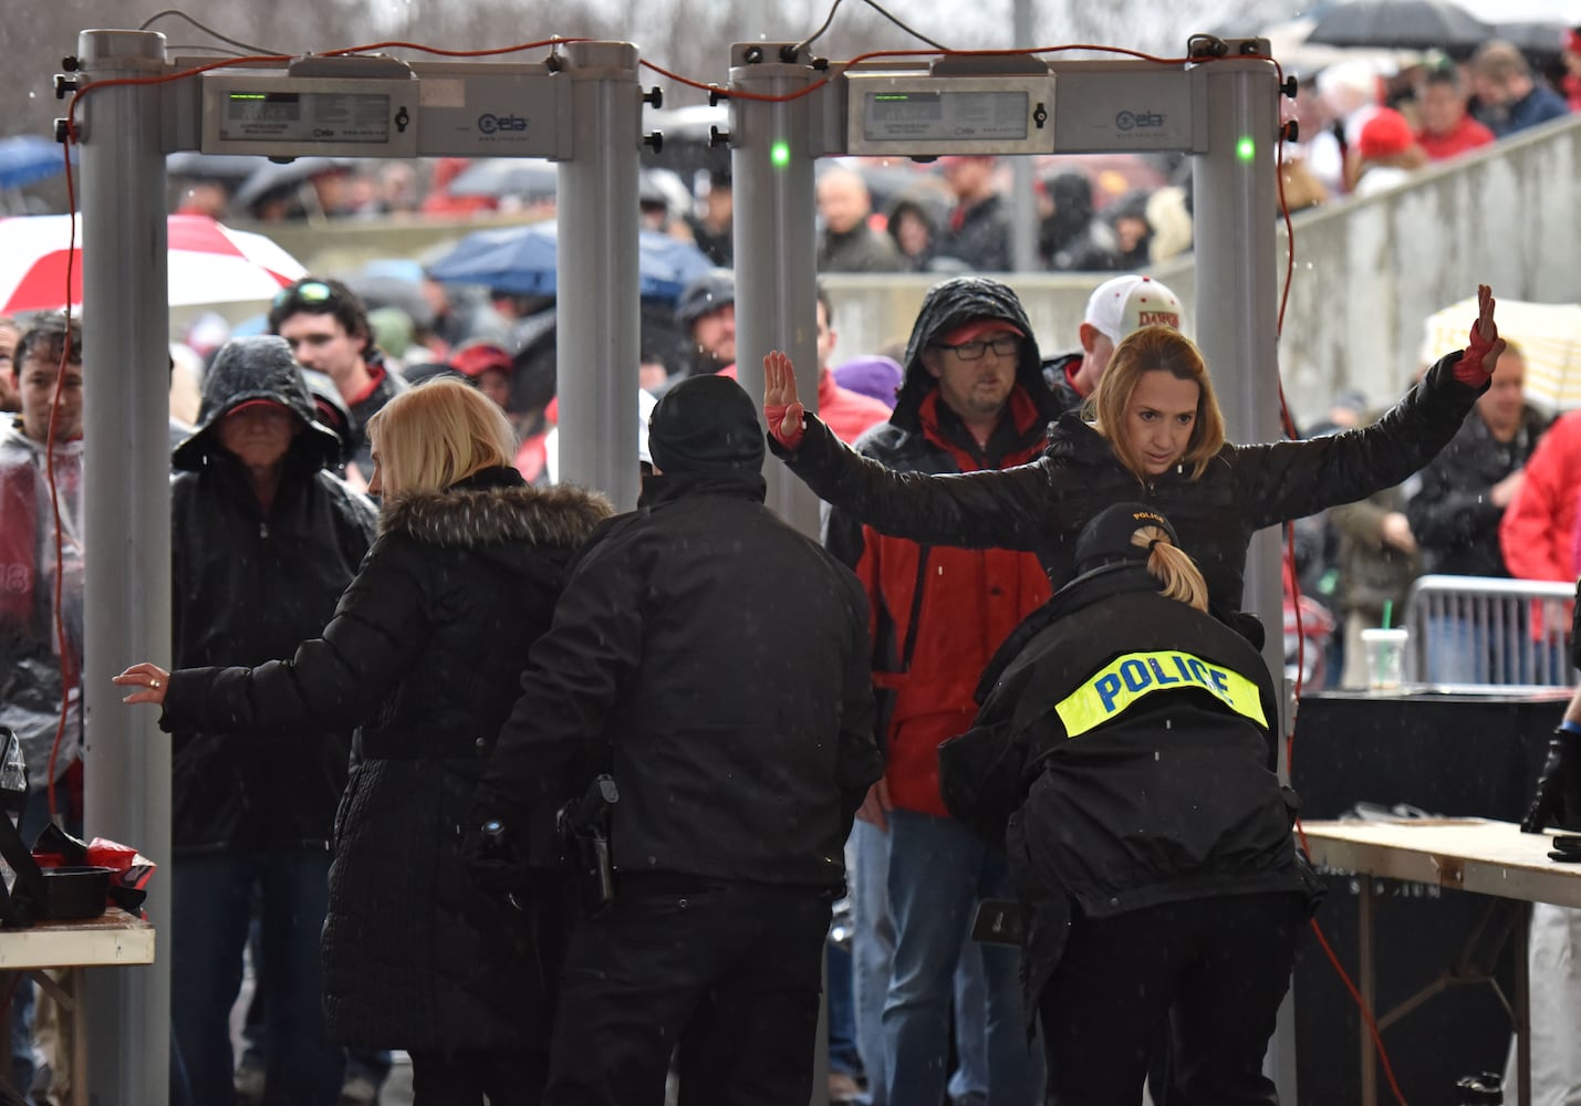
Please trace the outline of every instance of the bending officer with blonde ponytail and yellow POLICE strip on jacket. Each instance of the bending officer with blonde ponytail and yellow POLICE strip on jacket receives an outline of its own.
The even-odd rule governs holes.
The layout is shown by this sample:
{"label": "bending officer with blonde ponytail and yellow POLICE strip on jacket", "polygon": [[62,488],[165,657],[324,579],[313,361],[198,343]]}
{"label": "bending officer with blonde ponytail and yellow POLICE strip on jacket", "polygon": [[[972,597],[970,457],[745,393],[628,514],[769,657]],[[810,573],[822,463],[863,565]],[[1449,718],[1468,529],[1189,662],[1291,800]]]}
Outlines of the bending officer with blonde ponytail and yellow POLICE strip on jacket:
{"label": "bending officer with blonde ponytail and yellow POLICE strip on jacket", "polygon": [[1154,509],[1100,512],[1077,569],[939,750],[952,814],[1006,845],[1029,907],[1048,1103],[1138,1101],[1165,1032],[1170,1101],[1276,1103],[1263,1054],[1320,885],[1274,774],[1273,681]]}

